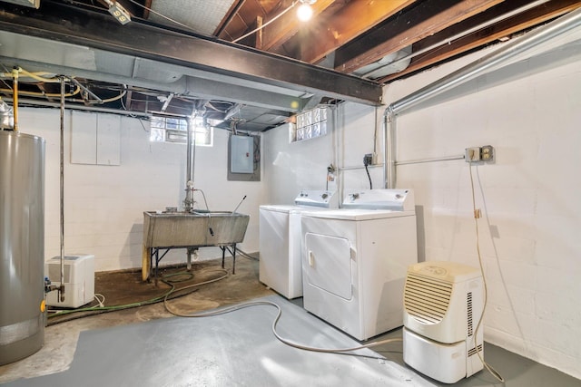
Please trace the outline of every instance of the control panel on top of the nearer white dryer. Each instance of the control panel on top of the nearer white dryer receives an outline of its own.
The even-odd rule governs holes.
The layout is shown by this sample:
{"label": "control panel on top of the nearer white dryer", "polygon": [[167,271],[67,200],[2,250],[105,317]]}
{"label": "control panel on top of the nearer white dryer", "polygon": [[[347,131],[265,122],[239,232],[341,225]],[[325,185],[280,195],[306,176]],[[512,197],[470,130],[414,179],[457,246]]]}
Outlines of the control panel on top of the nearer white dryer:
{"label": "control panel on top of the nearer white dryer", "polygon": [[412,211],[415,209],[411,189],[363,189],[349,192],[341,208],[392,209]]}

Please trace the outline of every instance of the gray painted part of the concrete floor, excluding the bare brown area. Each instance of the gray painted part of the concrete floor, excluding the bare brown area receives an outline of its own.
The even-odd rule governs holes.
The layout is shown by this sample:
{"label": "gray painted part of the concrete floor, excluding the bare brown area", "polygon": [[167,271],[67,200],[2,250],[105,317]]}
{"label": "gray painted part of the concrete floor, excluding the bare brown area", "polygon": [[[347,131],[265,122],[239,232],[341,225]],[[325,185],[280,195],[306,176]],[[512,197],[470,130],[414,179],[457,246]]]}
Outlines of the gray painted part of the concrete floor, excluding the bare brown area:
{"label": "gray painted part of the concrete floor, excluding the bare brown area", "polygon": [[[323,348],[359,345],[281,296],[260,298],[281,306],[278,332]],[[300,303],[300,301],[299,301]],[[296,302],[295,302],[296,304]],[[74,360],[64,372],[7,382],[3,386],[434,386],[438,382],[401,362],[401,343],[351,356],[312,353],[275,339],[277,310],[258,305],[204,318],[164,318],[80,334]],[[400,331],[383,337],[398,337]],[[581,381],[496,346],[487,360],[510,386],[581,386]],[[384,358],[385,356],[385,358]],[[387,359],[387,360],[386,360]],[[494,386],[487,372],[458,386]]]}

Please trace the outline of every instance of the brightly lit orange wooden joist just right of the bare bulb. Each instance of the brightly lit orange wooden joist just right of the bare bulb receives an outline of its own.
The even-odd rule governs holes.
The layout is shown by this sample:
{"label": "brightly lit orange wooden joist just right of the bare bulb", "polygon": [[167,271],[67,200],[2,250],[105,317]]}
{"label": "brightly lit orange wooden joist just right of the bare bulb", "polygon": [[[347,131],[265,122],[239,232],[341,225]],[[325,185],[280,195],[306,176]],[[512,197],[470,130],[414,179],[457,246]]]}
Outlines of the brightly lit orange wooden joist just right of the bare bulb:
{"label": "brightly lit orange wooden joist just right of the bare bulb", "polygon": [[[397,14],[417,0],[351,1],[335,15],[313,18],[306,34],[296,35],[290,45],[300,52],[291,57],[307,63],[317,63],[327,54]],[[287,54],[289,54],[287,52]]]}

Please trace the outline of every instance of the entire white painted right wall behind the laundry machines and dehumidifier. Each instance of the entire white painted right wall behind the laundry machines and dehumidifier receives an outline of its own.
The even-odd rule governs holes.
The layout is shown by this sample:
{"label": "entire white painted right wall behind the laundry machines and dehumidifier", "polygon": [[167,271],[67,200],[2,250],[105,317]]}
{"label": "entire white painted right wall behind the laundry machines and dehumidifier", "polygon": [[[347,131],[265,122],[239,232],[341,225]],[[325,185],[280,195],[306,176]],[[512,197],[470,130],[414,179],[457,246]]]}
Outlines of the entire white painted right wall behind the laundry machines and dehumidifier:
{"label": "entire white painted right wall behind the laundry machines and dehumidifier", "polygon": [[[488,51],[394,82],[386,88],[385,101],[395,102]],[[577,42],[489,73],[431,106],[401,115],[397,122],[398,160],[456,156],[470,146],[495,147],[496,162],[473,168],[477,206],[484,213],[478,225],[488,283],[485,338],[577,378],[581,377],[580,69]],[[268,198],[290,202],[298,189],[316,186],[334,160],[334,150],[340,167],[360,165],[363,154],[372,150],[373,131],[382,113],[383,109],[343,104],[333,135],[304,143],[289,145],[286,129],[268,131],[264,139]],[[374,187],[379,187],[382,171],[373,169],[372,176]],[[363,169],[344,171],[341,178],[345,189],[367,188]],[[478,266],[464,160],[402,165],[398,188],[415,190],[420,261]]]}

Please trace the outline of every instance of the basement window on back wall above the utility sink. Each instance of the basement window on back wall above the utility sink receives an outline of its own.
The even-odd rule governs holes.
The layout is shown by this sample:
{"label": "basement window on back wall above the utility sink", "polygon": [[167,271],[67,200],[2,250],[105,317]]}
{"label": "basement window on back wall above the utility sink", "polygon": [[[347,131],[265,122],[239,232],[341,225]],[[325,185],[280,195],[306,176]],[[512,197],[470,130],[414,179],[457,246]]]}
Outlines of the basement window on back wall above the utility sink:
{"label": "basement window on back wall above the utility sink", "polygon": [[[185,144],[188,139],[188,122],[183,118],[153,116],[149,140],[153,142],[177,142]],[[202,117],[193,120],[196,145],[212,147],[213,128]]]}

